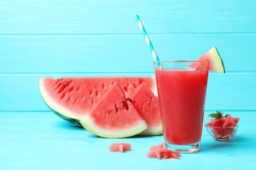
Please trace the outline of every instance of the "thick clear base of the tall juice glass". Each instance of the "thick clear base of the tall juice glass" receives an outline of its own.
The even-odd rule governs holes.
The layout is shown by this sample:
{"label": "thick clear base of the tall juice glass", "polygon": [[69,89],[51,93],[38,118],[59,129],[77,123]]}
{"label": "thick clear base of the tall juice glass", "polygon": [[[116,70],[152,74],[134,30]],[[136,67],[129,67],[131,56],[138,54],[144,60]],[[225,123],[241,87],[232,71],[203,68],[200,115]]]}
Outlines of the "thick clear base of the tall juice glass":
{"label": "thick clear base of the tall juice glass", "polygon": [[201,143],[194,143],[194,144],[170,144],[167,141],[163,142],[166,148],[169,148],[173,151],[179,151],[181,153],[195,153],[200,150]]}

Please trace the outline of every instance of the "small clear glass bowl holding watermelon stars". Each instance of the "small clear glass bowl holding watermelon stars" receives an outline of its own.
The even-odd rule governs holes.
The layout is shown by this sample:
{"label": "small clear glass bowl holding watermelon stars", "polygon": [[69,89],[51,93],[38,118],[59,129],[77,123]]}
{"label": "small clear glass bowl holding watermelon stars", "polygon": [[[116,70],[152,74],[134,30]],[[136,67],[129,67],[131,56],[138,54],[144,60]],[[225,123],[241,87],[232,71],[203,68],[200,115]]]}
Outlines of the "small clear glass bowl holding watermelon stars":
{"label": "small clear glass bowl holding watermelon stars", "polygon": [[206,126],[206,129],[208,133],[218,141],[228,141],[228,139],[232,138],[236,134],[236,131],[238,131],[238,125],[236,125],[236,127]]}

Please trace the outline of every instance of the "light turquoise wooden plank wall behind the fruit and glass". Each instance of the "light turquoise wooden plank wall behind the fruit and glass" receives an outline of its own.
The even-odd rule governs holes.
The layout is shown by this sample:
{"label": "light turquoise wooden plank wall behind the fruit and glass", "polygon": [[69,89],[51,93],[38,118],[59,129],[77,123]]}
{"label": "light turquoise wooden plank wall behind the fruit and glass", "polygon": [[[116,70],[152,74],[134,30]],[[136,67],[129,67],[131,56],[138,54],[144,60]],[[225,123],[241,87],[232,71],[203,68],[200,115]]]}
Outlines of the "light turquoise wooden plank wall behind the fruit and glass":
{"label": "light turquoise wooden plank wall behind the fruit and glass", "polygon": [[[0,1],[0,111],[45,111],[38,79],[153,73],[139,14],[161,60],[196,59],[217,46],[205,110],[256,110],[256,2]],[[110,74],[111,75],[111,74]]]}

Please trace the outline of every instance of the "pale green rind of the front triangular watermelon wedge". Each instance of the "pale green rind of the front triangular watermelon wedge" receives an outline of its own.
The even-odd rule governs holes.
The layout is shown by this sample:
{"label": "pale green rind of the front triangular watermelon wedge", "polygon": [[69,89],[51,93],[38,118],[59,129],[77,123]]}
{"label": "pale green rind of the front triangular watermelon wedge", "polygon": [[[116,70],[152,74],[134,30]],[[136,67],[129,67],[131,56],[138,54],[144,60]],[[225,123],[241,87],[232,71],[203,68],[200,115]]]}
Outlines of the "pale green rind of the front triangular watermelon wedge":
{"label": "pale green rind of the front triangular watermelon wedge", "polygon": [[100,127],[96,125],[93,121],[93,118],[89,114],[85,115],[85,117],[79,122],[87,131],[104,138],[125,138],[131,137],[141,133],[142,131],[148,129],[148,125],[144,120],[138,120],[136,122],[136,126],[117,127],[116,129],[107,129],[106,127]]}

